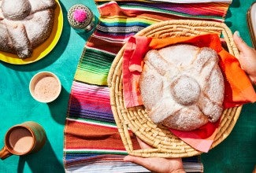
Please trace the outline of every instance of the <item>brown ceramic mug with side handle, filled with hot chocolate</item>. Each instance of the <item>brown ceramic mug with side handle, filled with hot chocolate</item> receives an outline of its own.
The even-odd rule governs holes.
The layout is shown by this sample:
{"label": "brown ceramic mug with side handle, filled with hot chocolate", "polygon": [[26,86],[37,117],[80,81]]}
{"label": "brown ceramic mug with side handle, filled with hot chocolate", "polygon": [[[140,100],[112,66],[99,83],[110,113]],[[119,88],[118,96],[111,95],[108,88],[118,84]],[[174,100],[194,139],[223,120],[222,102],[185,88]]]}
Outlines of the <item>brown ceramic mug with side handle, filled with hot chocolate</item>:
{"label": "brown ceramic mug with side handle, filled with hot chocolate", "polygon": [[9,129],[5,137],[5,145],[0,151],[0,158],[11,155],[24,156],[42,149],[46,143],[46,132],[39,123],[27,121]]}

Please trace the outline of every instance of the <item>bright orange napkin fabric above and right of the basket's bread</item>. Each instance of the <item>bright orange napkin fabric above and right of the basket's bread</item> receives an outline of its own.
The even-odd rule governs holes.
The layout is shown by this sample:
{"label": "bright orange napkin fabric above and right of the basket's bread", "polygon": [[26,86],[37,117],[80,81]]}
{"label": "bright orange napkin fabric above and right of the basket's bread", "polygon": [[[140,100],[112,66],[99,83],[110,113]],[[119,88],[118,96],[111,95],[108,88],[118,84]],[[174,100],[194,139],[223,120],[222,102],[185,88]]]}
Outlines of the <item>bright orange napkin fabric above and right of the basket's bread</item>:
{"label": "bright orange napkin fabric above and right of the basket's bread", "polygon": [[224,108],[231,108],[256,101],[254,88],[246,73],[240,68],[239,61],[221,47],[221,40],[215,34],[193,37],[177,37],[172,39],[152,39],[150,50],[176,43],[187,43],[198,47],[210,47],[216,50],[220,58],[220,67],[225,79]]}

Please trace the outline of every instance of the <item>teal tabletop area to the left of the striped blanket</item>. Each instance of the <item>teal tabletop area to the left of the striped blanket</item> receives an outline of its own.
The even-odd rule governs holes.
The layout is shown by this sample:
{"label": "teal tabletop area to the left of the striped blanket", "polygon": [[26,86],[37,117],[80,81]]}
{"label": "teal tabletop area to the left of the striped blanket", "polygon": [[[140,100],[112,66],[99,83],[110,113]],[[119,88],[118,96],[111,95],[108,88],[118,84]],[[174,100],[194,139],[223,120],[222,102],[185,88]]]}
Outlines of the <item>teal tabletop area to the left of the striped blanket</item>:
{"label": "teal tabletop area to the left of the striped blanket", "polygon": [[[0,62],[0,148],[9,127],[24,121],[41,124],[47,135],[46,145],[29,156],[9,156],[0,160],[0,172],[64,172],[63,130],[72,80],[76,72],[88,34],[79,35],[69,26],[67,12],[77,3],[90,7],[98,17],[93,0],[60,1],[63,13],[63,30],[58,44],[46,57],[32,64]],[[1,53],[0,53],[1,56]],[[30,95],[30,79],[37,72],[50,71],[58,75],[62,88],[60,97],[49,104],[35,101]]]}

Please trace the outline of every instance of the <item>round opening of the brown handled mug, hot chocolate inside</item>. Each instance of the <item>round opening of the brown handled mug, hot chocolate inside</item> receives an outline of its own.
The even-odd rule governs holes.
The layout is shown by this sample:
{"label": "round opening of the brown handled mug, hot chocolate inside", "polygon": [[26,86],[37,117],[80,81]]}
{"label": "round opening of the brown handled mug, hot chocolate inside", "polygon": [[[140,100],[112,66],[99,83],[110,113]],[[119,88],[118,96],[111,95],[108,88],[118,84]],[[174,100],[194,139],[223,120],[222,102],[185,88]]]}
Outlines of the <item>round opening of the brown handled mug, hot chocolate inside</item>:
{"label": "round opening of the brown handled mug, hot chocolate inside", "polygon": [[13,129],[9,134],[9,145],[17,153],[27,153],[33,146],[32,133],[24,127]]}

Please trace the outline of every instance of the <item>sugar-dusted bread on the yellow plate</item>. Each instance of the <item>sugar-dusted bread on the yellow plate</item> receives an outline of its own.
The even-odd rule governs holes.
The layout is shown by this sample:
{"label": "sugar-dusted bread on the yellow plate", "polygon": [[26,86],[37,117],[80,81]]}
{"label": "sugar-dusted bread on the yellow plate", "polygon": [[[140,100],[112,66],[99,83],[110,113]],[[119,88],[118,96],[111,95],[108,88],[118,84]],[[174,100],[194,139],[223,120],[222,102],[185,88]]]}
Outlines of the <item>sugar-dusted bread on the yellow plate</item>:
{"label": "sugar-dusted bread on the yellow plate", "polygon": [[0,0],[0,50],[30,57],[54,24],[54,0]]}

